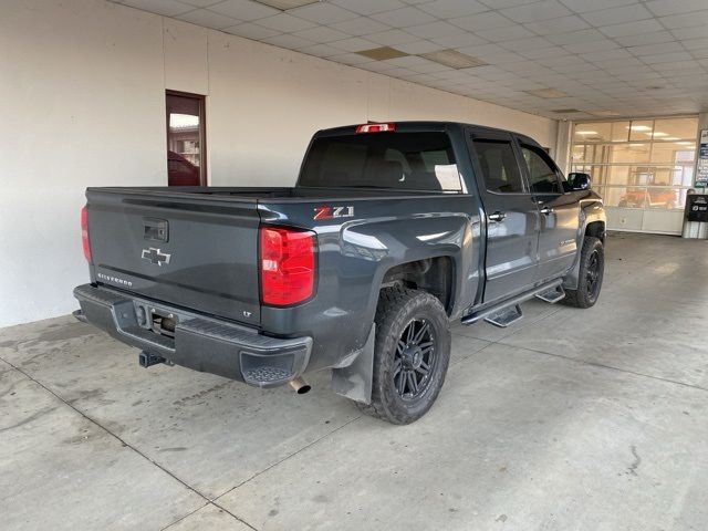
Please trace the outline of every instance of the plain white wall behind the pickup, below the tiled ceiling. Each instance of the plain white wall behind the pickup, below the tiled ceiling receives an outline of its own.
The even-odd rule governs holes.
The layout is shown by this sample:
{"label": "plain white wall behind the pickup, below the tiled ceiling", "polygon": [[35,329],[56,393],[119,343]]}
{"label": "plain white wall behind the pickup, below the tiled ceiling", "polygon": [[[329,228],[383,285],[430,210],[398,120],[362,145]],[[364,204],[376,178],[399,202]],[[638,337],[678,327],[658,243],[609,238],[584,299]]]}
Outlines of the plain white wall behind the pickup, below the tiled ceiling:
{"label": "plain white wall behind the pickup, below the tiled ceiling", "polygon": [[4,0],[0,326],[69,313],[86,186],[165,185],[165,90],[206,94],[209,183],[290,185],[321,127],[556,123],[102,0]]}

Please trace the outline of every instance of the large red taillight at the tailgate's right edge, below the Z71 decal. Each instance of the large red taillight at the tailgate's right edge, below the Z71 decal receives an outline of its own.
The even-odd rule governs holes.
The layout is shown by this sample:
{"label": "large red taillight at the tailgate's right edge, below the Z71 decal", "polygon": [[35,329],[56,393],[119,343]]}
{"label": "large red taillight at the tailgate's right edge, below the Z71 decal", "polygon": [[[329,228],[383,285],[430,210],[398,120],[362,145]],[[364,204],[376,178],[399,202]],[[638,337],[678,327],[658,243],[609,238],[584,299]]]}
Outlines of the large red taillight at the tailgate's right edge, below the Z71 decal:
{"label": "large red taillight at the tailgate's right edge, below the Z71 decal", "polygon": [[314,232],[261,227],[259,269],[261,302],[289,306],[314,292]]}

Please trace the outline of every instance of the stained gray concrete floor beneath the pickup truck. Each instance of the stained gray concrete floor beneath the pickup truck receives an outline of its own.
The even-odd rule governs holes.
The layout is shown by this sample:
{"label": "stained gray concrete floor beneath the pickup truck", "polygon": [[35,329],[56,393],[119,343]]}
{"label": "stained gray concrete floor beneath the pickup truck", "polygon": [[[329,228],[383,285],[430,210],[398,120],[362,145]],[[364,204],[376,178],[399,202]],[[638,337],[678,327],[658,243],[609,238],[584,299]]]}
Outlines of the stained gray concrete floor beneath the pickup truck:
{"label": "stained gray concrete floor beneath the pickup truck", "polygon": [[420,421],[0,330],[0,528],[705,530],[708,242],[613,235],[587,311],[454,330]]}

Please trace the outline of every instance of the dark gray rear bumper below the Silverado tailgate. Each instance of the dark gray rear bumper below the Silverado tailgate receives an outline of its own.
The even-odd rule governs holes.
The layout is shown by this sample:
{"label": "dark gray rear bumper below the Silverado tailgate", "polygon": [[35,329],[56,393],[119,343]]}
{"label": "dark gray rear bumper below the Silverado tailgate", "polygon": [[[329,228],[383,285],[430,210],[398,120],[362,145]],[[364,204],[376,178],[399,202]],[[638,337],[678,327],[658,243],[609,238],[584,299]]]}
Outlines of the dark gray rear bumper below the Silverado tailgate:
{"label": "dark gray rear bumper below the Silverado tailgate", "polygon": [[[274,387],[300,376],[312,351],[311,337],[275,339],[227,321],[185,312],[91,284],[74,289],[80,321],[123,343],[205,373]],[[154,332],[152,314],[176,321],[174,337]]]}

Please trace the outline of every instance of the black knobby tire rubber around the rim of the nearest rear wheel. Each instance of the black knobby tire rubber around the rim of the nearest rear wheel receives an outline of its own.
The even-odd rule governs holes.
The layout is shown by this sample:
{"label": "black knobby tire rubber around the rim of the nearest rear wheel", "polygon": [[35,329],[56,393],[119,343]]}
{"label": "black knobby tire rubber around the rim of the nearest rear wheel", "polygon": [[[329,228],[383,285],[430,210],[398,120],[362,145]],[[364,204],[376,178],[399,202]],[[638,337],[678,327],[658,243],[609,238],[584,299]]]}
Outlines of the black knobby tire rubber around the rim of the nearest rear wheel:
{"label": "black knobby tire rubber around the rim of the nearest rear wheel", "polygon": [[[371,404],[357,403],[367,415],[392,424],[410,424],[433,406],[440,393],[450,360],[450,323],[440,301],[424,291],[404,288],[381,290],[376,308],[376,337],[374,346],[374,372]],[[413,324],[412,324],[413,323]],[[420,396],[402,394],[397,389],[400,381],[394,381],[396,367],[400,366],[399,340],[408,326],[415,323],[423,330],[429,325],[435,358],[430,365],[426,387],[420,387]],[[428,348],[428,347],[426,347]],[[398,352],[398,354],[397,354]],[[399,377],[402,375],[399,374]],[[406,388],[407,383],[403,384]]]}

